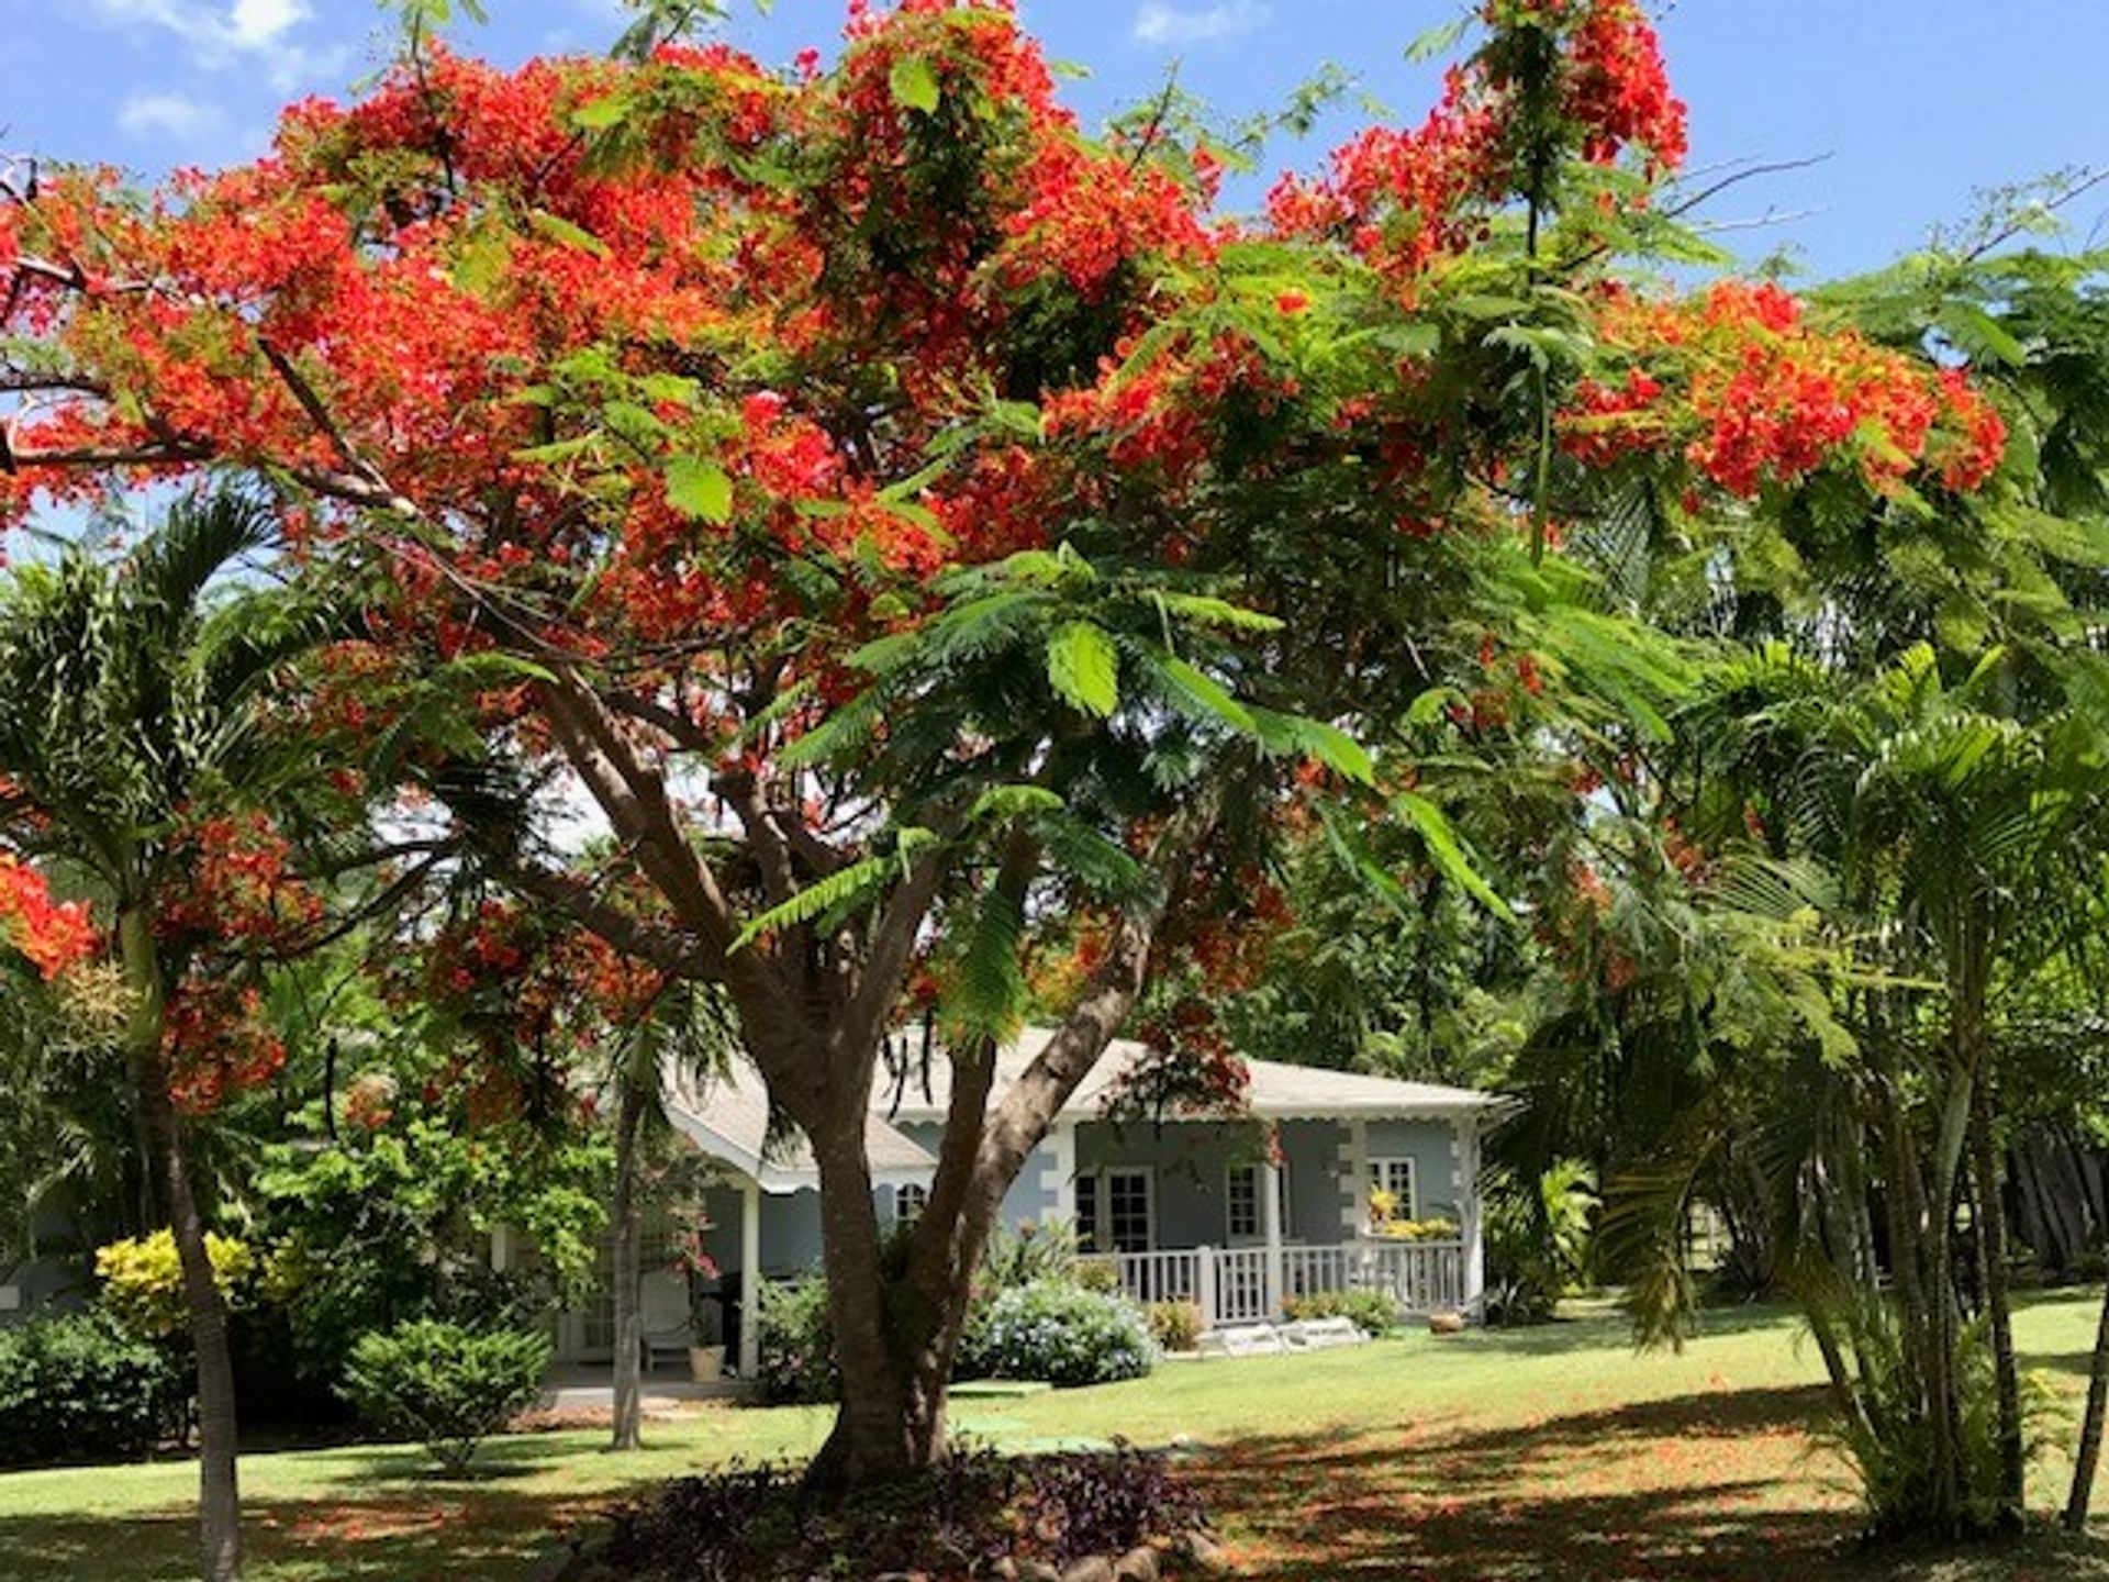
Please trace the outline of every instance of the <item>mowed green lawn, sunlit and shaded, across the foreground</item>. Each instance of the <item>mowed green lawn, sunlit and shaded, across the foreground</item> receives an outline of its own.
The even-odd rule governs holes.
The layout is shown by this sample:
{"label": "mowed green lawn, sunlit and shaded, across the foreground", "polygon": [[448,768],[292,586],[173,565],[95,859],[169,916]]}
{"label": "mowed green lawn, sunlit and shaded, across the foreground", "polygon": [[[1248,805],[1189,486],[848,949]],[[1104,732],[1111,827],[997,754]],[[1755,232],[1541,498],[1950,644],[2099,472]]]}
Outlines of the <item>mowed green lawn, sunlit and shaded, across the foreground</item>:
{"label": "mowed green lawn, sunlit and shaded, across the foreground", "polygon": [[[2096,1304],[2031,1301],[2029,1367],[2077,1403]],[[1681,1354],[1637,1356],[1615,1316],[1318,1356],[1175,1363],[1152,1380],[960,1403],[1004,1447],[1177,1443],[1244,1576],[1443,1582],[1829,1582],[2109,1578],[2109,1527],[1959,1557],[1862,1557],[1845,1470],[1814,1447],[1814,1352],[1780,1310],[1713,1314]],[[806,1455],[827,1415],[707,1409],[607,1455],[599,1432],[494,1441],[470,1481],[415,1449],[243,1462],[257,1582],[523,1582],[628,1493],[734,1458]],[[2069,1434],[2065,1434],[2069,1436]],[[2063,1453],[2035,1502],[2063,1496]],[[0,1477],[0,1578],[148,1582],[190,1574],[186,1464]],[[2109,1493],[2105,1493],[2109,1500]]]}

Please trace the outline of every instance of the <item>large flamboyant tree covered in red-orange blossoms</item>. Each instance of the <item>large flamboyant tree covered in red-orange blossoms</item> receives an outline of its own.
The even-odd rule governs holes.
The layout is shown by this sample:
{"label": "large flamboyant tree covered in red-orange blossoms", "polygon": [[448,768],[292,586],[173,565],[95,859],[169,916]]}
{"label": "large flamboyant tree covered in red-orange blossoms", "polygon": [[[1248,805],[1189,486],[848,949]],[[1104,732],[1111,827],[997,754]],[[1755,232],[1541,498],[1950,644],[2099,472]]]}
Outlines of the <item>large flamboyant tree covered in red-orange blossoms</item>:
{"label": "large flamboyant tree covered in red-orange blossoms", "polygon": [[[1966,384],[1782,293],[1615,281],[1685,148],[1634,0],[1478,21],[1421,127],[1246,221],[1170,110],[1084,135],[1000,0],[852,0],[785,72],[415,44],[253,165],[6,186],[0,510],[240,472],[386,565],[396,683],[487,662],[432,789],[494,875],[721,985],[812,1141],[820,1477],[943,1453],[1006,1185],[1154,972],[1274,922],[1284,829],[1396,821],[1499,907],[1438,766],[1653,715],[1565,532],[1997,454]],[[607,863],[540,833],[550,776]],[[1042,932],[1065,1015],[993,1093]],[[865,1116],[922,1010],[953,1099],[894,1266]],[[1204,1017],[1152,1034],[1234,1086]]]}

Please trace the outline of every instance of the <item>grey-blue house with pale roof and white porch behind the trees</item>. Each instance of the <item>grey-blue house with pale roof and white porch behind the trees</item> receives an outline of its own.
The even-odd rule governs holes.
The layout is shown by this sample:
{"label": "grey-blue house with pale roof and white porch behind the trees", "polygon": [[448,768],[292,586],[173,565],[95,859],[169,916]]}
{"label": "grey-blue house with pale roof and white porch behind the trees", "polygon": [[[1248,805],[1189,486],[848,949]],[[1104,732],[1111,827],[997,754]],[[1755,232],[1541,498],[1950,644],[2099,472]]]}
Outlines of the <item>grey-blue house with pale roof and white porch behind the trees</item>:
{"label": "grey-blue house with pale roof and white porch behind the trees", "polygon": [[[995,1093],[1050,1034],[1029,1029],[998,1057]],[[1107,1259],[1139,1301],[1192,1301],[1208,1329],[1261,1323],[1291,1297],[1388,1291],[1400,1312],[1476,1312],[1483,1291],[1481,1139],[1504,1099],[1430,1082],[1249,1061],[1251,1116],[1114,1118],[1109,1099],[1145,1055],[1116,1040],[1071,1095],[1004,1200],[1004,1223],[1069,1226]],[[867,1120],[882,1223],[920,1213],[945,1126],[949,1063],[928,1082],[882,1091]],[[884,1086],[884,1084],[882,1084]],[[818,1171],[804,1141],[772,1147],[768,1099],[742,1069],[698,1084],[669,1069],[666,1114],[713,1166],[702,1192],[702,1251],[719,1270],[702,1304],[702,1339],[725,1342],[753,1375],[757,1331],[747,1323],[766,1280],[804,1278],[820,1263]],[[1263,1133],[1278,1150],[1270,1156]],[[645,1329],[681,1325],[688,1274],[677,1266],[677,1217],[645,1226]],[[559,1323],[559,1361],[610,1354],[603,1289]]]}

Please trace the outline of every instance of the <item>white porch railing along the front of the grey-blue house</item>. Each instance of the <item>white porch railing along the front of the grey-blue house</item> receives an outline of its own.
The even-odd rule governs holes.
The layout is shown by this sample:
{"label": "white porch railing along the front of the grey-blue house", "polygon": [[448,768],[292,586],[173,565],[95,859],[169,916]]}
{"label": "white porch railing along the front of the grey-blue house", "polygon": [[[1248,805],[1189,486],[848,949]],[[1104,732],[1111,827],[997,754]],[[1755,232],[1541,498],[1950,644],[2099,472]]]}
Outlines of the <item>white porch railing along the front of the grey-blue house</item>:
{"label": "white porch railing along the front of the grey-blue house", "polygon": [[1289,1297],[1384,1291],[1400,1316],[1470,1310],[1466,1247],[1457,1242],[1356,1240],[1333,1247],[1284,1245],[1278,1272],[1265,1247],[1185,1247],[1107,1253],[1120,1289],[1135,1301],[1192,1301],[1208,1329],[1280,1318]]}

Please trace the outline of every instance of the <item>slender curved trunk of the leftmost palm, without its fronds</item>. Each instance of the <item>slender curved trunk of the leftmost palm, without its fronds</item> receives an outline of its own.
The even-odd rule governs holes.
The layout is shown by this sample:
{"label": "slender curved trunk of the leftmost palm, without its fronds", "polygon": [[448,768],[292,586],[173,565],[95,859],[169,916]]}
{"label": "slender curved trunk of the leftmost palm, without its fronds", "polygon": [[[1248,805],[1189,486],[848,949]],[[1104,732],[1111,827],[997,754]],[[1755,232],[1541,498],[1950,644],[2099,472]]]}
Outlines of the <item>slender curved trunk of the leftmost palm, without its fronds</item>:
{"label": "slender curved trunk of the leftmost palm, without its fronds", "polygon": [[127,1025],[133,1082],[148,1143],[160,1175],[183,1268],[183,1306],[190,1316],[190,1348],[198,1377],[198,1561],[205,1582],[238,1582],[243,1574],[243,1508],[236,1481],[238,1424],[234,1411],[234,1356],[228,1350],[228,1306],[213,1278],[205,1247],[205,1217],[190,1183],[183,1122],[169,1099],[169,1067],[162,1059],[162,979],[148,913],[129,907],[118,918],[118,949],[124,981],[133,991]]}

